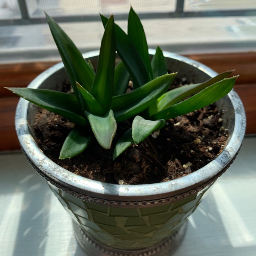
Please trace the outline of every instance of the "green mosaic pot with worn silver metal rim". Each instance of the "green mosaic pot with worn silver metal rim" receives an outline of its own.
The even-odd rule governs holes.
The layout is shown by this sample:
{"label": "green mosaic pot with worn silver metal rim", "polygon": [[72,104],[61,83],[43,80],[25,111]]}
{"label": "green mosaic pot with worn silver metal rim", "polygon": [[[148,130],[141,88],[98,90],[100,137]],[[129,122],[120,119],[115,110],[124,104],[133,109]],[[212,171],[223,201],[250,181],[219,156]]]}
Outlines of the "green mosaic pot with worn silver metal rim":
{"label": "green mosaic pot with worn silver metal rim", "polygon": [[[198,83],[216,75],[199,62],[164,54],[169,70],[178,71],[178,79],[190,77],[189,81]],[[84,57],[95,62],[97,55],[98,51]],[[35,78],[29,87],[59,90],[66,77],[63,64],[59,63]],[[194,173],[156,184],[102,183],[59,167],[38,148],[33,133],[38,108],[24,99],[17,106],[16,130],[29,162],[73,218],[77,241],[86,255],[170,255],[182,241],[188,216],[233,162],[244,137],[245,113],[237,94],[232,90],[217,104],[224,110],[223,125],[230,133],[223,152]]]}

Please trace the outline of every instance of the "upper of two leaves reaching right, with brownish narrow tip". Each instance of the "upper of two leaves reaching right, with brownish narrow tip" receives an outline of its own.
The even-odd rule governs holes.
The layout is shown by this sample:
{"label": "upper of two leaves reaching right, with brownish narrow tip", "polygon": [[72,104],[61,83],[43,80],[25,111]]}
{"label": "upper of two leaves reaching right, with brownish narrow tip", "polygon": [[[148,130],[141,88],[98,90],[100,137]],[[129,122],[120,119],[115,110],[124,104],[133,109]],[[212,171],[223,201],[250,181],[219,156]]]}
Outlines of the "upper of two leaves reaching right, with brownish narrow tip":
{"label": "upper of two leaves reaching right, with brownish narrow tip", "polygon": [[[167,93],[163,94],[157,100],[157,111],[163,110],[175,103],[178,103],[181,100],[183,100],[184,98],[186,98],[192,94],[195,94],[195,93],[203,90],[204,88],[206,88],[214,83],[217,83],[218,81],[221,81],[222,79],[224,79],[225,77],[230,75],[232,72],[233,72],[233,70],[226,71],[226,72],[216,75],[215,77],[212,77],[211,79],[209,79],[203,83],[184,85],[179,88],[175,88],[173,90],[168,91]],[[150,113],[153,114],[153,112],[150,112]]]}

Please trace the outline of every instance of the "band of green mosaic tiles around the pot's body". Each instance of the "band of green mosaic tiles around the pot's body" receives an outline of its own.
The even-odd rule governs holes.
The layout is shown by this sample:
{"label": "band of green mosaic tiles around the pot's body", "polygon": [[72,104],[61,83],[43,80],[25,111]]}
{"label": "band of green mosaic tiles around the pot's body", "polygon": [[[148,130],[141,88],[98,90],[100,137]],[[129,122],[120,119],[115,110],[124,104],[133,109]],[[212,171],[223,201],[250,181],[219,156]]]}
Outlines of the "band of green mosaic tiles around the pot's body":
{"label": "band of green mosaic tiles around the pot's body", "polygon": [[105,245],[129,250],[148,247],[168,237],[185,223],[205,192],[175,203],[127,209],[85,202],[51,189],[90,236]]}

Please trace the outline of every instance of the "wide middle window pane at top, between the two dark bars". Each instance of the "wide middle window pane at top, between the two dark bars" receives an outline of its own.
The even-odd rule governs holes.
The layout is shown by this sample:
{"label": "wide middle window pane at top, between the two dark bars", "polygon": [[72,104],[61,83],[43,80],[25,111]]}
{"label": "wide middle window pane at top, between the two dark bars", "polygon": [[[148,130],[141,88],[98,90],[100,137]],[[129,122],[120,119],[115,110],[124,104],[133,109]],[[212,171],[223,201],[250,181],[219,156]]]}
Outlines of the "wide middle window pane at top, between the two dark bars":
{"label": "wide middle window pane at top, between the two dark bars", "polygon": [[43,10],[51,16],[98,15],[128,13],[130,6],[137,13],[173,12],[175,0],[26,0],[30,17],[43,17]]}

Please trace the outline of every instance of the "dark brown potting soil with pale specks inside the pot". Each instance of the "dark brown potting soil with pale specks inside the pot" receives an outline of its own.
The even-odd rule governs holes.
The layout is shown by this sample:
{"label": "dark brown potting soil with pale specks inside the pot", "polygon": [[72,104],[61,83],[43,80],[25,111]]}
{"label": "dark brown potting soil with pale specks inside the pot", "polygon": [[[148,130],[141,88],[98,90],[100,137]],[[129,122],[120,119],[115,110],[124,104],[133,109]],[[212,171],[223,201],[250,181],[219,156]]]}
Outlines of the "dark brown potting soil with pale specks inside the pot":
{"label": "dark brown potting soil with pale specks inside the pot", "polygon": [[[176,179],[198,170],[214,159],[227,139],[221,114],[210,105],[168,120],[159,135],[153,134],[138,146],[132,145],[112,160],[113,148],[104,150],[95,141],[79,156],[58,159],[72,123],[41,110],[34,125],[38,144],[46,156],[63,168],[108,183],[148,184]],[[119,124],[118,131],[122,126]],[[115,145],[115,143],[113,143]]]}

